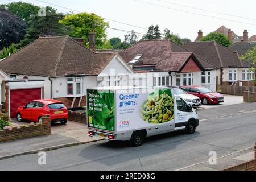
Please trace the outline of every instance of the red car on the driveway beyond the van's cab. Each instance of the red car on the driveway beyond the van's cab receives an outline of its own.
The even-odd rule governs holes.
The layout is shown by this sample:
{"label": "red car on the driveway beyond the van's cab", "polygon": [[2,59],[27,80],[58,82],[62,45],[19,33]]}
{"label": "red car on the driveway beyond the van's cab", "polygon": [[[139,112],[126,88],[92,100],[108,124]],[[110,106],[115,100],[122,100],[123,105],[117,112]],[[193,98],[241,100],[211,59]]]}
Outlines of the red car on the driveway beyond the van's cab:
{"label": "red car on the driveway beyond the van's cab", "polygon": [[224,102],[224,96],[222,94],[213,92],[204,86],[180,86],[180,88],[188,94],[199,97],[204,105]]}

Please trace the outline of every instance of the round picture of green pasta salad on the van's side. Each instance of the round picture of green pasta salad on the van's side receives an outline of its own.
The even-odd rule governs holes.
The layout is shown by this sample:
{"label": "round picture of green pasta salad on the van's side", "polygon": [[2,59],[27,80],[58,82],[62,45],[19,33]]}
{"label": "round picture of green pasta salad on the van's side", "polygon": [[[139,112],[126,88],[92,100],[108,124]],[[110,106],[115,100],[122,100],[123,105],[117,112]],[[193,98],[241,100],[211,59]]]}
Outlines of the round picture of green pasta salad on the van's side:
{"label": "round picture of green pasta salad on the van's side", "polygon": [[142,119],[148,123],[165,123],[174,119],[171,89],[156,89],[142,105]]}

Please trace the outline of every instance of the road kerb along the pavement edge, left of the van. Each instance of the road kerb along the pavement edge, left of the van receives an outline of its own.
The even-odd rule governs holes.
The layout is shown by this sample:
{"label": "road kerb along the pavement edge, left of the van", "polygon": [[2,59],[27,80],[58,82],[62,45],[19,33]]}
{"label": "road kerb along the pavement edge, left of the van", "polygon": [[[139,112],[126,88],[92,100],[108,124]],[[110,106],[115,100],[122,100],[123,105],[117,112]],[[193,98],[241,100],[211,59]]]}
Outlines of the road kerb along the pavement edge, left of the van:
{"label": "road kerb along the pavement edge, left of the van", "polygon": [[39,149],[36,149],[36,150],[20,152],[20,153],[17,153],[17,154],[10,154],[10,155],[6,155],[6,156],[0,156],[0,160],[10,159],[10,158],[14,158],[16,156],[21,156],[21,155],[37,154],[40,151],[46,152],[46,151],[57,150],[57,149],[60,149],[60,148],[65,148],[65,147],[78,146],[80,144],[98,142],[98,141],[101,141],[101,140],[104,140],[104,139],[98,139],[98,140],[86,141],[86,142],[73,142],[73,143],[67,143],[67,144],[60,144],[60,145],[57,145],[57,146],[39,148]]}

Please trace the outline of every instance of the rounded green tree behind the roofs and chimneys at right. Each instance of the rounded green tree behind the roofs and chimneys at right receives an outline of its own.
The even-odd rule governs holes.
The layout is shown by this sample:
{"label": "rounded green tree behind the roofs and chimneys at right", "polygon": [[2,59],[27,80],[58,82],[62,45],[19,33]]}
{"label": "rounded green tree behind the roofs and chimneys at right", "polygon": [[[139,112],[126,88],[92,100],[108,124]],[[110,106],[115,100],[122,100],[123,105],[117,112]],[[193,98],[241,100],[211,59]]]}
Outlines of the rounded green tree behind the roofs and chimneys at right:
{"label": "rounded green tree behind the roofs and chimneys at right", "polygon": [[207,34],[207,36],[204,36],[203,38],[200,39],[200,41],[209,41],[209,40],[215,40],[217,43],[225,47],[228,47],[232,44],[228,36],[220,32],[210,32],[209,34]]}

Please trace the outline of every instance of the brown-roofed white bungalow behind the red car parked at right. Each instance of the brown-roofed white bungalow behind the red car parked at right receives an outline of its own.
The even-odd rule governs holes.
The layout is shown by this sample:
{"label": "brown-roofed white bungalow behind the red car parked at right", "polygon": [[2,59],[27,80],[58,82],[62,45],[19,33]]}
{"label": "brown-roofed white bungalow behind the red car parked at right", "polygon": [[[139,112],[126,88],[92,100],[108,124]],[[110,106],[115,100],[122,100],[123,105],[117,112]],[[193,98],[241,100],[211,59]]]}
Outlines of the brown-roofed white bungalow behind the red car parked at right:
{"label": "brown-roofed white bungalow behind the red car parked at right", "polygon": [[[248,72],[248,65],[239,59],[240,54],[214,41],[187,42],[183,47],[208,60],[218,68],[218,83],[225,85],[254,86],[254,71]],[[249,77],[247,77],[249,75]]]}

